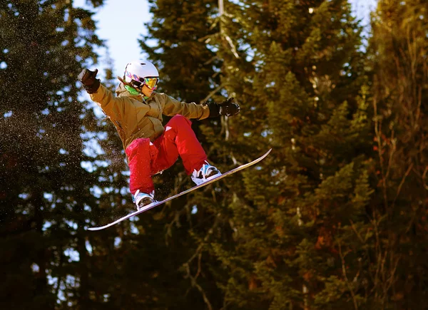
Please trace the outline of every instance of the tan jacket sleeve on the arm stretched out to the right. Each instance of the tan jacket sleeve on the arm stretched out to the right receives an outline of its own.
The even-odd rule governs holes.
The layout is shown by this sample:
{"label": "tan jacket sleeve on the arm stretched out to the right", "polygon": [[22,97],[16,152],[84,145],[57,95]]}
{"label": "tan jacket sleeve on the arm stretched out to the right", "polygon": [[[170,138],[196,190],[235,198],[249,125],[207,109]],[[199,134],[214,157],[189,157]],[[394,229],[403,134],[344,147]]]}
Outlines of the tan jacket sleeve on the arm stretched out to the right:
{"label": "tan jacket sleeve on the arm stretched out to the right", "polygon": [[210,109],[205,105],[197,105],[196,103],[180,102],[171,98],[165,93],[160,94],[164,103],[163,114],[173,116],[177,114],[183,115],[185,118],[196,118],[203,120],[210,116]]}

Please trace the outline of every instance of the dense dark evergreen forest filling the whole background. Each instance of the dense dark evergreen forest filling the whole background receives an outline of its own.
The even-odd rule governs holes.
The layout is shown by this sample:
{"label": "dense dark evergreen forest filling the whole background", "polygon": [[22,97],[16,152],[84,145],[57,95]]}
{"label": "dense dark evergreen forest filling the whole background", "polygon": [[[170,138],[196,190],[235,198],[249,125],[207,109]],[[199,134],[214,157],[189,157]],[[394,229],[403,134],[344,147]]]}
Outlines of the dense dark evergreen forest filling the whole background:
{"label": "dense dark evergreen forest filling the whole background", "polygon": [[[240,104],[193,122],[210,161],[272,153],[89,232],[134,209],[76,81],[93,13],[0,0],[1,309],[427,309],[427,1],[379,0],[368,36],[346,0],[149,4],[159,91]],[[155,180],[158,199],[191,186],[180,160]]]}

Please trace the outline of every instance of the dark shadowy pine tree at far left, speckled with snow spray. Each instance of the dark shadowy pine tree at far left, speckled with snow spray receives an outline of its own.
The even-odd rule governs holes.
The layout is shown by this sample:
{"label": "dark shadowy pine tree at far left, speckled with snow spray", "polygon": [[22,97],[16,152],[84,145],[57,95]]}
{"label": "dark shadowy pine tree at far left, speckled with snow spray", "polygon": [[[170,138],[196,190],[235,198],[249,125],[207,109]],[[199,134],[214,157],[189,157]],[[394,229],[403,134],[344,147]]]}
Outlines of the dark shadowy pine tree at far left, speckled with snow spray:
{"label": "dark shadowy pine tree at far left, speckled with snow spray", "polygon": [[82,153],[76,76],[101,44],[91,15],[72,1],[1,1],[4,309],[88,305],[96,176],[81,167],[91,157]]}

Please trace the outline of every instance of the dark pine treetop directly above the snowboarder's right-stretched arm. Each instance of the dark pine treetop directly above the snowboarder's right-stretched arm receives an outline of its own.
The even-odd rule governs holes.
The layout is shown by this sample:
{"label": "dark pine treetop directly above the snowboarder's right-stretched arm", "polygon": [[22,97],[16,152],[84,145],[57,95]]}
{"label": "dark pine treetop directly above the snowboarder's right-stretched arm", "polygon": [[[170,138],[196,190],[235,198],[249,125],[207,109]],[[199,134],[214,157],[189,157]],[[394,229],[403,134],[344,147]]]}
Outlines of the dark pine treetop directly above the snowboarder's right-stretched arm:
{"label": "dark pine treetop directly above the snowboarder's right-stretched arm", "polygon": [[[216,1],[149,1],[153,20],[148,34],[139,40],[141,48],[161,73],[160,91],[174,98],[200,103],[218,83],[219,66],[205,40]],[[156,41],[156,42],[154,42]]]}

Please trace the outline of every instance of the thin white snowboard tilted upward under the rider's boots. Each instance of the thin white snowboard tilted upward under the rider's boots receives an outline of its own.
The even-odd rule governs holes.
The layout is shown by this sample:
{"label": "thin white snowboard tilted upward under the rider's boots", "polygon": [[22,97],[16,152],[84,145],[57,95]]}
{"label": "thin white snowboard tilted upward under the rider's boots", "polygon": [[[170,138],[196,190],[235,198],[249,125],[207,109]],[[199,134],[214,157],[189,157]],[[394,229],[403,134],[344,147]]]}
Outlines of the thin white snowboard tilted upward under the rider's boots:
{"label": "thin white snowboard tilted upward under the rider's boots", "polygon": [[238,171],[243,170],[243,169],[245,169],[245,168],[247,168],[247,167],[250,167],[250,166],[252,166],[252,165],[255,165],[256,163],[260,162],[260,160],[263,160],[263,159],[267,156],[267,154],[269,154],[269,153],[270,153],[270,151],[271,151],[271,150],[272,150],[272,149],[268,150],[264,155],[262,155],[262,156],[258,157],[258,159],[253,160],[252,162],[248,162],[248,163],[247,163],[247,164],[245,164],[245,165],[240,165],[239,167],[236,167],[235,169],[229,170],[228,172],[225,172],[225,173],[223,173],[222,175],[219,175],[218,177],[214,177],[214,178],[213,178],[213,179],[211,179],[211,180],[208,180],[208,181],[206,181],[206,182],[203,182],[203,183],[202,183],[202,184],[200,184],[200,185],[196,185],[196,186],[194,186],[194,187],[192,187],[192,188],[189,188],[188,190],[185,190],[184,192],[180,192],[180,193],[179,193],[179,194],[177,194],[177,195],[173,195],[173,196],[171,196],[171,197],[168,197],[168,198],[166,198],[165,200],[158,201],[158,202],[153,202],[153,203],[151,203],[150,205],[146,205],[146,207],[143,207],[143,208],[141,208],[140,210],[138,210],[138,211],[136,211],[136,212],[132,212],[132,213],[130,213],[130,214],[128,214],[128,215],[126,215],[126,216],[124,216],[124,217],[121,217],[120,219],[116,219],[116,221],[111,222],[110,224],[106,224],[106,225],[104,225],[104,226],[100,226],[100,227],[91,227],[91,228],[88,228],[88,230],[101,230],[101,229],[106,229],[106,228],[108,228],[108,227],[111,227],[111,226],[113,226],[113,225],[115,225],[115,224],[118,224],[118,223],[120,223],[120,222],[124,221],[125,219],[129,219],[129,218],[134,217],[134,216],[136,216],[136,215],[139,215],[139,214],[141,214],[141,213],[143,213],[143,212],[146,212],[147,210],[151,210],[152,208],[157,207],[158,205],[162,205],[162,204],[164,204],[165,202],[168,202],[168,201],[173,200],[173,199],[175,199],[175,198],[177,198],[177,197],[180,197],[180,196],[183,196],[183,195],[185,195],[185,194],[188,194],[189,192],[192,192],[193,190],[198,190],[198,188],[200,188],[200,187],[204,187],[205,185],[208,185],[208,184],[211,184],[211,183],[213,183],[213,182],[216,182],[216,181],[218,181],[218,180],[220,180],[220,179],[223,179],[223,177],[227,177],[228,175],[232,175],[232,174],[233,174],[233,173],[235,173],[235,172],[238,172]]}

